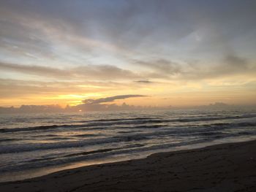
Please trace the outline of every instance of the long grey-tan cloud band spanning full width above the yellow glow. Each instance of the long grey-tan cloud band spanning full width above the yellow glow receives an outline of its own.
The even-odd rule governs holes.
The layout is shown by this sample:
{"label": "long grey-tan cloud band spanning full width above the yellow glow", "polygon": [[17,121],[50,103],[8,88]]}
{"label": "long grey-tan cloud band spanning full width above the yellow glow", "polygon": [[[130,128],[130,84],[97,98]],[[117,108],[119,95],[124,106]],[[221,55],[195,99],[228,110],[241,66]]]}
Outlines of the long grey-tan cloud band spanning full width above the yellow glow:
{"label": "long grey-tan cloud band spanning full width above the yellow glow", "polygon": [[225,77],[230,75],[252,75],[255,74],[256,65],[246,58],[236,54],[227,54],[221,60],[204,61],[180,64],[167,59],[156,59],[151,61],[132,60],[133,65],[139,65],[140,73],[121,69],[112,65],[80,65],[72,68],[53,68],[50,66],[9,64],[0,62],[2,72],[19,72],[33,74],[40,77],[51,77],[60,80],[131,80],[138,83],[151,83],[149,80],[140,79],[162,79],[162,80],[204,80]]}

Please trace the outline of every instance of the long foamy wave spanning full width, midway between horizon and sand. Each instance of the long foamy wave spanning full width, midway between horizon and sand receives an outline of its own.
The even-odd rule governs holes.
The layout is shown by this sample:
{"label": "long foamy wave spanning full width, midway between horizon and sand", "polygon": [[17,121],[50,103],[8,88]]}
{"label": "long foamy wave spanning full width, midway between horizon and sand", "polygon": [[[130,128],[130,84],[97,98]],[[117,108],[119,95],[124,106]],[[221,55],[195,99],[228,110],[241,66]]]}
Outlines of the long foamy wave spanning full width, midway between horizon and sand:
{"label": "long foamy wave spanning full width, midway between horizon and sand", "polygon": [[[68,147],[84,147],[89,145],[106,145],[108,143],[132,142],[150,140],[150,139],[163,139],[172,137],[229,137],[241,136],[246,132],[240,131],[236,134],[236,130],[241,130],[244,126],[251,126],[255,128],[256,123],[215,123],[211,126],[179,126],[179,127],[165,127],[159,131],[138,132],[134,131],[127,135],[114,135],[113,137],[89,137],[91,139],[81,139],[72,142],[49,142],[49,143],[30,143],[30,144],[9,144],[1,145],[0,153],[19,153],[33,150],[54,150]],[[226,131],[225,131],[226,130]],[[256,134],[256,130],[251,131],[252,135]],[[84,134],[86,135],[86,134]],[[79,135],[78,135],[79,136]],[[58,139],[58,138],[57,138]]]}

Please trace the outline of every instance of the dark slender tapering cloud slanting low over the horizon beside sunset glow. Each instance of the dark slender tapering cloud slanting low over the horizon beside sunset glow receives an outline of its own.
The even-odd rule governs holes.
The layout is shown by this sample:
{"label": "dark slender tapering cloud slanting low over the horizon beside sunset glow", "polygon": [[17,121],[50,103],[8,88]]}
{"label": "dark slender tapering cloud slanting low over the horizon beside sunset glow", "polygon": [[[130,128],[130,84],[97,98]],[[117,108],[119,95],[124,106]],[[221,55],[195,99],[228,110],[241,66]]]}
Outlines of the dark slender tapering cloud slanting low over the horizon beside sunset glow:
{"label": "dark slender tapering cloud slanting low over the horizon beside sunset glow", "polygon": [[101,104],[101,103],[115,101],[118,99],[127,99],[127,98],[131,98],[131,97],[142,97],[142,96],[143,95],[110,96],[110,97],[105,97],[105,98],[100,98],[100,99],[85,99],[85,100],[83,100],[83,103],[85,103],[85,104]]}

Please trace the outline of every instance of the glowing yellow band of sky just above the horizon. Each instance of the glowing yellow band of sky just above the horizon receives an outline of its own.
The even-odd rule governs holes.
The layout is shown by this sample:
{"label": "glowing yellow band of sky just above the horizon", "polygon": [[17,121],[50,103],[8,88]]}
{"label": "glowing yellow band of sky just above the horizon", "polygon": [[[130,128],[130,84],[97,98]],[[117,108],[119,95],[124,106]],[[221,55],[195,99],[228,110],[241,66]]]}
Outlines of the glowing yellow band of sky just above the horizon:
{"label": "glowing yellow band of sky just above the horizon", "polygon": [[[0,101],[1,106],[60,104],[65,107],[67,104],[72,106],[81,104],[84,99],[136,93],[146,97],[120,99],[110,102],[110,104],[126,102],[132,105],[154,107],[195,106],[217,101],[227,104],[253,104],[256,91],[253,85],[247,84],[247,82],[234,83],[234,80],[228,82],[227,79],[223,82],[220,79],[200,82],[124,82],[121,85],[108,85],[106,88],[103,85],[68,85],[68,83],[62,87],[59,84],[52,85],[53,88],[49,88],[48,85],[15,85],[12,91],[13,96],[9,94],[6,98],[1,98]],[[17,98],[16,95],[20,95],[20,97]]]}

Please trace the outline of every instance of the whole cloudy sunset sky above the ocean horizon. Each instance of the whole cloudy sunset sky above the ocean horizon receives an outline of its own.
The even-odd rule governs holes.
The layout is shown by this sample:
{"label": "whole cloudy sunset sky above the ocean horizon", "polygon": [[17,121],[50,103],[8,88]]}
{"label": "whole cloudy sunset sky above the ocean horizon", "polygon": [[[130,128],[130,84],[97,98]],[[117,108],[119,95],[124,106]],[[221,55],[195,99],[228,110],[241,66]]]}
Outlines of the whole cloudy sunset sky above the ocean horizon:
{"label": "whole cloudy sunset sky above the ocean horizon", "polygon": [[256,1],[1,0],[0,106],[255,104],[255,52]]}

